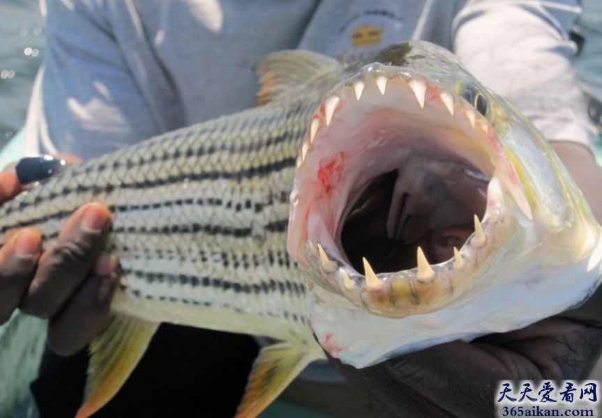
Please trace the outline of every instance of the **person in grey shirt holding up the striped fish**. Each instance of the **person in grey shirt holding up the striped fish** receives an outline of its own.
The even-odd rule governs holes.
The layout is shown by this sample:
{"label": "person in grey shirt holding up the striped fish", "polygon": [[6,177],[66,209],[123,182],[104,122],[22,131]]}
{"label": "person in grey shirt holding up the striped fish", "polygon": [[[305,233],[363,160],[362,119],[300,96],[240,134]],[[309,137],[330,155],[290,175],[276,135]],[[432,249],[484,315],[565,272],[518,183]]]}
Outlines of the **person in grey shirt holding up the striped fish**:
{"label": "person in grey shirt holding up the striped fish", "polygon": [[[602,169],[589,149],[591,125],[571,70],[573,1],[124,0],[48,2],[47,8],[48,50],[28,125],[38,151],[89,160],[253,107],[258,86],[248,69],[271,52],[308,49],[357,67],[388,45],[422,39],[453,50],[536,123],[602,221]],[[259,99],[274,94],[266,88],[270,82],[263,80]],[[486,114],[478,100],[484,93],[470,94],[470,105]],[[479,181],[479,175],[467,176]],[[22,188],[14,171],[0,173],[0,201]],[[82,401],[88,361],[82,350],[103,329],[121,280],[119,259],[104,251],[111,227],[111,211],[88,203],[70,216],[52,247],[43,248],[35,228],[23,228],[0,249],[0,323],[17,308],[50,319],[50,350],[33,383],[43,417],[75,415]],[[292,387],[297,393],[288,396],[335,416],[490,416],[492,384],[499,379],[588,375],[602,352],[600,292],[520,330],[446,342],[360,369],[340,362],[321,340],[335,357],[331,363],[366,400],[349,401],[356,389],[329,371],[305,376],[305,383],[302,376]],[[164,325],[146,353],[151,360],[95,416],[197,416],[202,408],[232,416],[257,351],[250,336]],[[152,376],[169,376],[169,382]],[[355,410],[315,387],[350,391],[345,399]],[[306,396],[312,388],[313,401]],[[159,404],[170,412],[159,412]]]}

